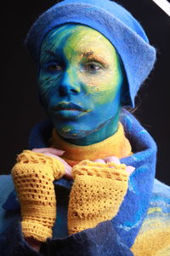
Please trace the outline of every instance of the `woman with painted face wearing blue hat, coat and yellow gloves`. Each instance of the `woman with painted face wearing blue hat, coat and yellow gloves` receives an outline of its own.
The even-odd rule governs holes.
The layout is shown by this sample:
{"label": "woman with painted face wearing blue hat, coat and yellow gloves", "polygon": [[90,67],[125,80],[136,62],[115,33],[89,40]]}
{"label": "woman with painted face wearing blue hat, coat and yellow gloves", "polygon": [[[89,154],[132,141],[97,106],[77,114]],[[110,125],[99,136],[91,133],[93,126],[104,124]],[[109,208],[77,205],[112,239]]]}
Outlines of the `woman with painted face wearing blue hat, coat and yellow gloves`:
{"label": "woman with painted face wearing blue hat, coat and yellow gloves", "polygon": [[26,45],[48,121],[0,180],[0,254],[168,255],[156,143],[123,108],[156,59],[139,22],[108,0],[65,0]]}

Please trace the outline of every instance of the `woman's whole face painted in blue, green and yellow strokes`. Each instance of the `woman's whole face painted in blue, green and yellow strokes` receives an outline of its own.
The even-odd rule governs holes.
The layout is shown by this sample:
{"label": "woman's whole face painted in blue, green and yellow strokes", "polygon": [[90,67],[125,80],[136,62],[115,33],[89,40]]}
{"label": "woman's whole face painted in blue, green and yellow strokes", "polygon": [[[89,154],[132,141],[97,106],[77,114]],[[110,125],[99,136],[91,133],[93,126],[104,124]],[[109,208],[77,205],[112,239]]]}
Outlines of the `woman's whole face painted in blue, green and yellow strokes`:
{"label": "woman's whole face painted in blue, green and yellow strokes", "polygon": [[88,26],[60,26],[42,42],[42,105],[59,135],[85,137],[117,119],[122,70],[116,49]]}

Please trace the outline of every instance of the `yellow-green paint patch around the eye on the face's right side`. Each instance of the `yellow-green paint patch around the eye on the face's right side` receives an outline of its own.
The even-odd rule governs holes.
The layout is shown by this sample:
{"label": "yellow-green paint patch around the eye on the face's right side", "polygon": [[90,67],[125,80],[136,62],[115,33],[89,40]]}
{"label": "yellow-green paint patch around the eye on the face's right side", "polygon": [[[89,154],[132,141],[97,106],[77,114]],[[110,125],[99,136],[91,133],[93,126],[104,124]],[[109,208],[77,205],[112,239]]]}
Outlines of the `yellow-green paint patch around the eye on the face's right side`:
{"label": "yellow-green paint patch around the eye on the face's right side", "polygon": [[88,85],[88,95],[95,102],[113,100],[122,73],[116,49],[107,38],[88,26],[78,26],[68,38],[64,54],[77,68],[78,79]]}

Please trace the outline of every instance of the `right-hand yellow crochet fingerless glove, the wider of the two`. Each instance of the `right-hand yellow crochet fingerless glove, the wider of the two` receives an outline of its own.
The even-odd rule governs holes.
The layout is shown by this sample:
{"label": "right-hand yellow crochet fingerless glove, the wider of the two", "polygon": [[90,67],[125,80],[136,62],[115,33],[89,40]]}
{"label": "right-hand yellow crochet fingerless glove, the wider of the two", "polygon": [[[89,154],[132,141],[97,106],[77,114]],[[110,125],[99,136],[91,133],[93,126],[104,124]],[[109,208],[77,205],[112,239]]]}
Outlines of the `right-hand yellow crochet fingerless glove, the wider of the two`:
{"label": "right-hand yellow crochet fingerless glove, the wider of the two", "polygon": [[125,165],[83,160],[72,169],[74,183],[68,209],[68,230],[74,234],[116,216],[127,193]]}

